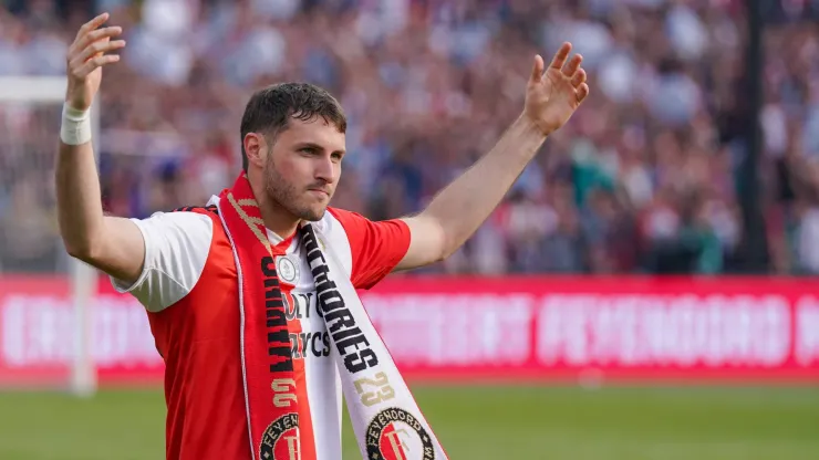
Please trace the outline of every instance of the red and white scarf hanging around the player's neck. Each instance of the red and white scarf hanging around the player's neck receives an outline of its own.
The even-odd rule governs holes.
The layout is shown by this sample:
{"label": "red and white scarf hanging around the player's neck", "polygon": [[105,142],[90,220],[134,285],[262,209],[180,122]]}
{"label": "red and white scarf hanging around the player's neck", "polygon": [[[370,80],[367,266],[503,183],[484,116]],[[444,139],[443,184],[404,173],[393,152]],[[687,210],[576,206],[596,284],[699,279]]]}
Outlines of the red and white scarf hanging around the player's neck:
{"label": "red and white scarf hanging around the player's neck", "polygon": [[[317,460],[304,454],[312,449],[301,448],[300,433],[310,428],[299,426],[284,300],[273,248],[247,176],[239,176],[219,198],[219,216],[239,279],[241,369],[251,451],[257,460]],[[447,459],[328,240],[309,223],[300,227],[300,238],[362,457]]]}

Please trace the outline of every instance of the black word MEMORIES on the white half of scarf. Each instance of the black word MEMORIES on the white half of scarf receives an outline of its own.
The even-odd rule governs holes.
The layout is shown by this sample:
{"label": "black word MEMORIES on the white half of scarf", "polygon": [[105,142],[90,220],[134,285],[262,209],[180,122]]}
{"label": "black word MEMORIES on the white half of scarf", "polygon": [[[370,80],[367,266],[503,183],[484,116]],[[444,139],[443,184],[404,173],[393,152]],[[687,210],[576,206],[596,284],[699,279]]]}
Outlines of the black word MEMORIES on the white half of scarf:
{"label": "black word MEMORIES on the white half of scarf", "polygon": [[344,367],[350,374],[357,374],[379,365],[379,356],[370,348],[370,341],[364,332],[355,324],[355,318],[344,304],[338,286],[329,278],[330,268],[324,254],[319,249],[315,233],[304,231],[304,248],[310,270],[313,273],[319,303],[328,325],[328,332],[333,337],[339,354],[344,357]]}

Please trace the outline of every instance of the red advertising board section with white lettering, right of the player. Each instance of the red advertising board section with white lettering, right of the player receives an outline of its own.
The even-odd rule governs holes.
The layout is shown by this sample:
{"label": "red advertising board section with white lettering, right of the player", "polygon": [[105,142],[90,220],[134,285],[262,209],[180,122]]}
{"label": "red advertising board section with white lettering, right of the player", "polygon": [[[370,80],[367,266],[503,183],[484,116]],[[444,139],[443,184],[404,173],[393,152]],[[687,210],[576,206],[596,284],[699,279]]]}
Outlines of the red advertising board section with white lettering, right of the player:
{"label": "red advertising board section with white lettering, right of the player", "polygon": [[819,381],[806,280],[394,280],[362,299],[415,378]]}

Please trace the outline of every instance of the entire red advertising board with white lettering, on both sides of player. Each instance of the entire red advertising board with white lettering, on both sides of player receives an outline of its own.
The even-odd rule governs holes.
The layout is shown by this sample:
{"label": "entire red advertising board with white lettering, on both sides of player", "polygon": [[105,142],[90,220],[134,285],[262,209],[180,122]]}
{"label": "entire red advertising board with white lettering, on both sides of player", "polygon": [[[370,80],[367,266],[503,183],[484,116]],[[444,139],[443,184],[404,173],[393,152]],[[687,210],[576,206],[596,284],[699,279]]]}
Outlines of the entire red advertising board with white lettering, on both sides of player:
{"label": "entire red advertising board with white lettering, on both sides of player", "polygon": [[[393,278],[362,292],[407,379],[819,383],[819,283],[806,279]],[[101,385],[160,383],[135,300],[100,283]],[[0,278],[0,385],[68,381],[66,280]]]}

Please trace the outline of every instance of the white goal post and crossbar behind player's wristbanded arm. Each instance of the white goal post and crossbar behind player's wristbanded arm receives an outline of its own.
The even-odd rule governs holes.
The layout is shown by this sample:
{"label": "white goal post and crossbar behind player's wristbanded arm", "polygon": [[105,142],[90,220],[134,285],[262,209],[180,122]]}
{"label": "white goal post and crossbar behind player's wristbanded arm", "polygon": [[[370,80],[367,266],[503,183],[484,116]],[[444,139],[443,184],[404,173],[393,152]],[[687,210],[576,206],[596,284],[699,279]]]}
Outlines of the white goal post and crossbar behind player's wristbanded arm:
{"label": "white goal post and crossbar behind player's wristbanded arm", "polygon": [[[0,76],[0,104],[54,104],[62,106],[65,100],[66,79],[64,76]],[[100,138],[99,95],[94,98],[91,121],[93,138]],[[54,155],[59,133],[53,133]],[[95,145],[99,159],[99,146]],[[70,391],[76,396],[91,396],[96,391],[96,369],[91,351],[92,317],[91,306],[96,294],[97,275],[90,265],[71,259],[69,270],[71,303],[74,316],[73,359],[71,364]]]}

